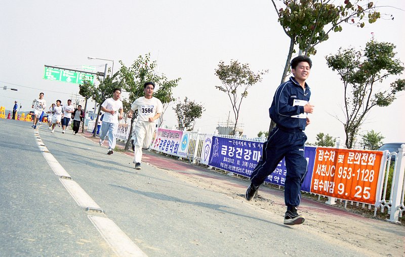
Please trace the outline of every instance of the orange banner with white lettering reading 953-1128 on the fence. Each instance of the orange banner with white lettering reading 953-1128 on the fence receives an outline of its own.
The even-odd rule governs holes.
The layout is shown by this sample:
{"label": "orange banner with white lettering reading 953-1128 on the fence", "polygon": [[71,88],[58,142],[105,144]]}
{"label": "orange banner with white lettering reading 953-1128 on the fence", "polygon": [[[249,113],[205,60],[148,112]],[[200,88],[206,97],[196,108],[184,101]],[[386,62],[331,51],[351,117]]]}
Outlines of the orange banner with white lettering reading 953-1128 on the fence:
{"label": "orange banner with white lettering reading 953-1128 on the fence", "polygon": [[318,147],[311,192],[375,204],[382,157],[381,151]]}

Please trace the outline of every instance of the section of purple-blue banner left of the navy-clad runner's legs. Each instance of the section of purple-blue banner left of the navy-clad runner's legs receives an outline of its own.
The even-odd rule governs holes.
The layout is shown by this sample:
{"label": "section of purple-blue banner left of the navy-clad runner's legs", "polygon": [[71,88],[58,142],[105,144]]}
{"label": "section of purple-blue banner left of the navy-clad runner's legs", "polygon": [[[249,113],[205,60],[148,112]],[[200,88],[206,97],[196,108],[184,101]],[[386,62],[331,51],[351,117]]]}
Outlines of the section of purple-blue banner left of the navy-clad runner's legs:
{"label": "section of purple-blue banner left of the navy-clad runner's legs", "polygon": [[208,165],[250,177],[262,156],[263,143],[212,137]]}

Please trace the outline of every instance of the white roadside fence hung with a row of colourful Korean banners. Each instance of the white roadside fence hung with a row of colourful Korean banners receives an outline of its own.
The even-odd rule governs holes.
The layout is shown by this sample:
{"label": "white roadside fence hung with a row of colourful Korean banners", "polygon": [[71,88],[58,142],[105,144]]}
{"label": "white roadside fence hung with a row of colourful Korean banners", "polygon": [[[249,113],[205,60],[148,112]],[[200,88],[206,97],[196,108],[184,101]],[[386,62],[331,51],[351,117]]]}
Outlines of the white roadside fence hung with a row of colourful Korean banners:
{"label": "white roadside fence hung with a row of colourful Korean banners", "polygon": [[[120,125],[123,128],[118,132],[123,135],[119,138],[128,138],[128,126]],[[265,138],[242,139],[157,128],[149,149],[250,177],[261,157],[264,141]],[[346,204],[354,201],[374,205],[375,215],[377,208],[381,208],[381,212],[387,208],[390,221],[396,222],[405,210],[405,158],[402,158],[405,148],[400,149],[396,154],[306,146],[304,154],[308,172],[301,190],[342,199]],[[392,186],[388,188],[391,156],[395,156],[394,174]],[[286,175],[283,159],[265,182],[284,186]],[[386,199],[387,192],[390,192],[389,199]]]}

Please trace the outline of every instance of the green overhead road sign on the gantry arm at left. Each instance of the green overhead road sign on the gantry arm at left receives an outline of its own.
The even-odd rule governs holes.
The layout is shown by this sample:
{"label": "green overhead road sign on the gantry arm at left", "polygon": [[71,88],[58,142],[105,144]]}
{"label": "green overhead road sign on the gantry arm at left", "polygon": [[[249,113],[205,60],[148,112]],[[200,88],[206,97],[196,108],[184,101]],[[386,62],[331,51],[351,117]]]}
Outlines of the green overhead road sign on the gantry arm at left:
{"label": "green overhead road sign on the gantry arm at left", "polygon": [[44,79],[82,84],[84,79],[90,80],[93,83],[94,75],[85,72],[45,67]]}

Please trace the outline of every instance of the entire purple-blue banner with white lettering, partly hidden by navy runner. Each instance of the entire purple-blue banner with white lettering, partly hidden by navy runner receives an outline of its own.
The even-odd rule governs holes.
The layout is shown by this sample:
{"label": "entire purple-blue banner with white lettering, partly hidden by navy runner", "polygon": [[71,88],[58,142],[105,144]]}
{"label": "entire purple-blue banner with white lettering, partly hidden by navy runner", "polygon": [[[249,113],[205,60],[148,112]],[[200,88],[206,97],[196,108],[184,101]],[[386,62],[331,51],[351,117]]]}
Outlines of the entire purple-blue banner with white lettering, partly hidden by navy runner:
{"label": "entire purple-blue banner with white lettering, partly hidden by navy runner", "polygon": [[[228,172],[250,177],[262,156],[262,150],[263,143],[261,142],[214,136],[212,137],[209,165],[227,170]],[[308,162],[308,173],[302,183],[302,191],[310,191],[315,154],[316,147],[305,147],[304,156]],[[274,172],[270,174],[265,181],[284,186],[286,175],[286,162],[282,159]]]}

